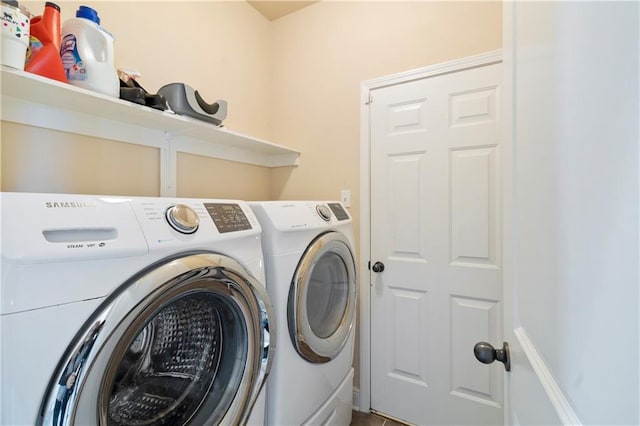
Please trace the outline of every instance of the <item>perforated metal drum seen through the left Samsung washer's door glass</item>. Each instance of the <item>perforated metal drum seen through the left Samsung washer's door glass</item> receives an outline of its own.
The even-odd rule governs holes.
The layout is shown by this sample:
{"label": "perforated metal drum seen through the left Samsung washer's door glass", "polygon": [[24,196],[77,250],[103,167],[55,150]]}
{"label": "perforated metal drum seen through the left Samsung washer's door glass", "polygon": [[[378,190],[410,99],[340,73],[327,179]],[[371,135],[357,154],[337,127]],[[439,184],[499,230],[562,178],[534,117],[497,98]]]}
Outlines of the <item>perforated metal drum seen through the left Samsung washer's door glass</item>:
{"label": "perforated metal drum seen through the left Samsung washer's door glass", "polygon": [[249,352],[239,306],[215,290],[199,289],[145,317],[133,341],[114,352],[100,417],[113,425],[181,425],[204,406],[207,417],[222,418]]}

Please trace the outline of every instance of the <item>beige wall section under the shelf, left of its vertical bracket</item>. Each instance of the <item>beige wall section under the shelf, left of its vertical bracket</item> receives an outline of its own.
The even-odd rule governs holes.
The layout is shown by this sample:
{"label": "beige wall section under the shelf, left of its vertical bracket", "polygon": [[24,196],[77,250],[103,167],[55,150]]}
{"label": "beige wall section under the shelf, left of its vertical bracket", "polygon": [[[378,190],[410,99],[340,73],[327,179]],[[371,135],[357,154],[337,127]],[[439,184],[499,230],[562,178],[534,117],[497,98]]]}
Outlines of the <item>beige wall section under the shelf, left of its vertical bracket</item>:
{"label": "beige wall section under the shelf, left of its vertical bracket", "polygon": [[157,196],[156,148],[2,123],[2,190]]}

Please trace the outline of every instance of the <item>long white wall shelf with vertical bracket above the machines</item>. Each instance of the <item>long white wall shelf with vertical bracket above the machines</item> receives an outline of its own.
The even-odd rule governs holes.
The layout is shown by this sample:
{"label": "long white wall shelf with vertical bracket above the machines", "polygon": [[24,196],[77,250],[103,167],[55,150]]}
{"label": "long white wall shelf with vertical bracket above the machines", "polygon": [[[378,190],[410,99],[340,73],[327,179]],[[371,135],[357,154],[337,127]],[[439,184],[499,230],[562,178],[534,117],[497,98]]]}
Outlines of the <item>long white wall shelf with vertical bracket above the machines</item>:
{"label": "long white wall shelf with vertical bracket above the machines", "polygon": [[263,167],[295,166],[300,153],[204,121],[155,110],[2,67],[5,121],[160,149],[162,195],[175,195],[176,153]]}

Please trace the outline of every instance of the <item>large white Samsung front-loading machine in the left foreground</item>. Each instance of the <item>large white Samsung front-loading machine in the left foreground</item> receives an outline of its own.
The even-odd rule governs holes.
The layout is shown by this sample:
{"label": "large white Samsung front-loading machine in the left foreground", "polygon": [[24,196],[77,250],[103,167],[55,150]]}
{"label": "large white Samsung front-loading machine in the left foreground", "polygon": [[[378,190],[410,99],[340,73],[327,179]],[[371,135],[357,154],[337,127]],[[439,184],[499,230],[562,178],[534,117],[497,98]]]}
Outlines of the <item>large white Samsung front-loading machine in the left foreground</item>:
{"label": "large white Samsung front-loading machine in the left foreground", "polygon": [[0,424],[264,423],[274,315],[246,203],[0,202]]}

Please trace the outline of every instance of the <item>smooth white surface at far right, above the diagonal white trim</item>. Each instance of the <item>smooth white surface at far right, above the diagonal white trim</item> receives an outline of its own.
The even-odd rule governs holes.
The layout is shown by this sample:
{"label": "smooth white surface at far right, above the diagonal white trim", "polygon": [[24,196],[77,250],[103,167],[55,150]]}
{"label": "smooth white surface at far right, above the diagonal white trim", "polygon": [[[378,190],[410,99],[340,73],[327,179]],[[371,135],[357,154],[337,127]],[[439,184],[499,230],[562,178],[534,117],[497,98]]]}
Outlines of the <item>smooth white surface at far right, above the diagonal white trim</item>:
{"label": "smooth white surface at far right, above the diagonal white trim", "polygon": [[514,9],[515,313],[580,422],[638,424],[640,5]]}

